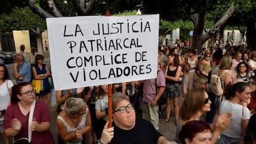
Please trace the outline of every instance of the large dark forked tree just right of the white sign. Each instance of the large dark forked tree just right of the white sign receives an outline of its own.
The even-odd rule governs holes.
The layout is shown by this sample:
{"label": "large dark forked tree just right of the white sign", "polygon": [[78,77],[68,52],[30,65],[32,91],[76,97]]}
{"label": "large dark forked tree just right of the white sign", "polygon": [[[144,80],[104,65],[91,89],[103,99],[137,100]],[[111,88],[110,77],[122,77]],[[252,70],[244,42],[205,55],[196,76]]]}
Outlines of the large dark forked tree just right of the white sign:
{"label": "large dark forked tree just right of the white sign", "polygon": [[[143,4],[145,4],[145,9],[143,9],[145,14],[150,13],[151,11],[154,11],[153,9],[157,9],[158,12],[160,12],[161,17],[166,20],[190,20],[194,24],[194,36],[193,36],[193,43],[192,48],[197,48],[198,51],[200,51],[202,44],[207,41],[211,36],[215,35],[216,32],[218,32],[221,28],[221,26],[224,25],[226,20],[229,19],[234,14],[234,11],[236,9],[235,6],[233,6],[233,0],[229,0],[228,5],[229,9],[222,9],[220,12],[223,12],[225,10],[226,12],[223,12],[224,14],[222,17],[221,15],[218,15],[218,17],[215,18],[215,24],[209,29],[205,29],[205,20],[207,20],[207,14],[211,11],[214,11],[216,7],[223,5],[221,2],[226,2],[224,0],[183,0],[183,1],[164,1],[160,0],[155,3],[156,1],[149,0],[149,1],[143,1]],[[147,3],[147,4],[146,4]],[[169,13],[166,11],[168,9],[171,9]],[[155,11],[156,12],[156,11]],[[164,14],[164,15],[162,15]],[[212,19],[209,19],[211,21]],[[205,30],[205,34],[203,34],[203,30]]]}

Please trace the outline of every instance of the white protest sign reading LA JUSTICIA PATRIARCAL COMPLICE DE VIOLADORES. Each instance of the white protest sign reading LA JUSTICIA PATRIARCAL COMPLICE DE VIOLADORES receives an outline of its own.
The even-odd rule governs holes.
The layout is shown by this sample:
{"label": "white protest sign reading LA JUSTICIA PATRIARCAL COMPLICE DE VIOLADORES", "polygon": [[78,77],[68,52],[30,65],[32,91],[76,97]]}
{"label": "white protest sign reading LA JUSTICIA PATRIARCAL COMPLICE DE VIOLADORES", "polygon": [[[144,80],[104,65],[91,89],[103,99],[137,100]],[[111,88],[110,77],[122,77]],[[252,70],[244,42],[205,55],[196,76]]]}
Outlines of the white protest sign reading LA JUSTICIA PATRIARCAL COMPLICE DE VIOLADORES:
{"label": "white protest sign reading LA JUSTICIA PATRIARCAL COMPLICE DE VIOLADORES", "polygon": [[55,90],[156,78],[159,15],[46,19]]}

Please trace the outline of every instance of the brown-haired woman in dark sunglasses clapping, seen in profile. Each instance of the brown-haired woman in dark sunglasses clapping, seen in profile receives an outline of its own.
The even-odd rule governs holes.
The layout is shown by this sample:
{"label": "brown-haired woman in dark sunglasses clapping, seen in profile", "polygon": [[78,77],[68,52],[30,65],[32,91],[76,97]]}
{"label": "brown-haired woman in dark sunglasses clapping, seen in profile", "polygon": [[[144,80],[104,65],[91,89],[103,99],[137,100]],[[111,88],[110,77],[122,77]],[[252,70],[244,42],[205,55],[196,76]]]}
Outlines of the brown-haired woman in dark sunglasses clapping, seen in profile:
{"label": "brown-haired woman in dark sunglasses clapping, seen in profile", "polygon": [[[180,109],[180,119],[176,128],[176,137],[174,141],[181,143],[179,139],[179,132],[182,129],[182,125],[186,122],[193,120],[200,120],[200,117],[204,112],[210,111],[211,101],[208,98],[208,94],[203,88],[194,88],[189,90],[184,98]],[[215,124],[215,131],[213,132],[213,142],[216,142],[220,132],[226,129],[230,124],[229,114],[221,114]]]}

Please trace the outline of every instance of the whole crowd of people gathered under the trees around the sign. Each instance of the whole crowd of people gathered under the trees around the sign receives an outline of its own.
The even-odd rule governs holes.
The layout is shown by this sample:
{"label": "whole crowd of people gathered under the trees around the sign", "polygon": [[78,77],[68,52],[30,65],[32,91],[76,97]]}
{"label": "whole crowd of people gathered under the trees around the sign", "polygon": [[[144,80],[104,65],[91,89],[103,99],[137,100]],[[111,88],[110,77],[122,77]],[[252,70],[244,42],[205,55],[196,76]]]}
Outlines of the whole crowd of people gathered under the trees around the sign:
{"label": "whole crowd of people gathered under the trees around the sign", "polygon": [[[34,48],[30,63],[26,61],[24,49],[20,46],[21,53],[15,55],[15,83],[0,65],[0,133],[6,144],[24,138],[33,144],[54,143],[48,108],[51,72]],[[195,49],[163,47],[156,78],[56,91],[58,143],[255,143],[256,51],[247,50],[229,44],[221,49],[216,43],[200,55]],[[222,95],[213,93],[211,75],[220,77]],[[43,82],[39,93],[33,79]],[[166,117],[160,121],[158,100],[163,95]],[[160,124],[169,124],[172,104],[176,135],[167,140],[158,130]],[[142,118],[135,112],[142,112]]]}

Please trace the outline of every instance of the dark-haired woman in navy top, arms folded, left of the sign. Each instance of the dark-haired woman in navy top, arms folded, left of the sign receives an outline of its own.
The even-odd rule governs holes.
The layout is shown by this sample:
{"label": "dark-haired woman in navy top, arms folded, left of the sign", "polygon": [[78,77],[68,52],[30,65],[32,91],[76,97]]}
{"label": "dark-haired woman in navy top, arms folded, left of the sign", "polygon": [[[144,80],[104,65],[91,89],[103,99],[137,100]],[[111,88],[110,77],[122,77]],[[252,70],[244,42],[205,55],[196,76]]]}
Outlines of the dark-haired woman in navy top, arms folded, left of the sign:
{"label": "dark-haired woman in navy top, arms folded, left of the sign", "polygon": [[40,93],[36,93],[39,96],[40,101],[44,101],[48,105],[48,93],[51,92],[51,85],[49,83],[48,77],[51,76],[48,66],[43,64],[44,56],[41,54],[36,55],[35,65],[32,67],[32,72],[35,80],[43,80],[41,83],[43,85],[43,90]]}

